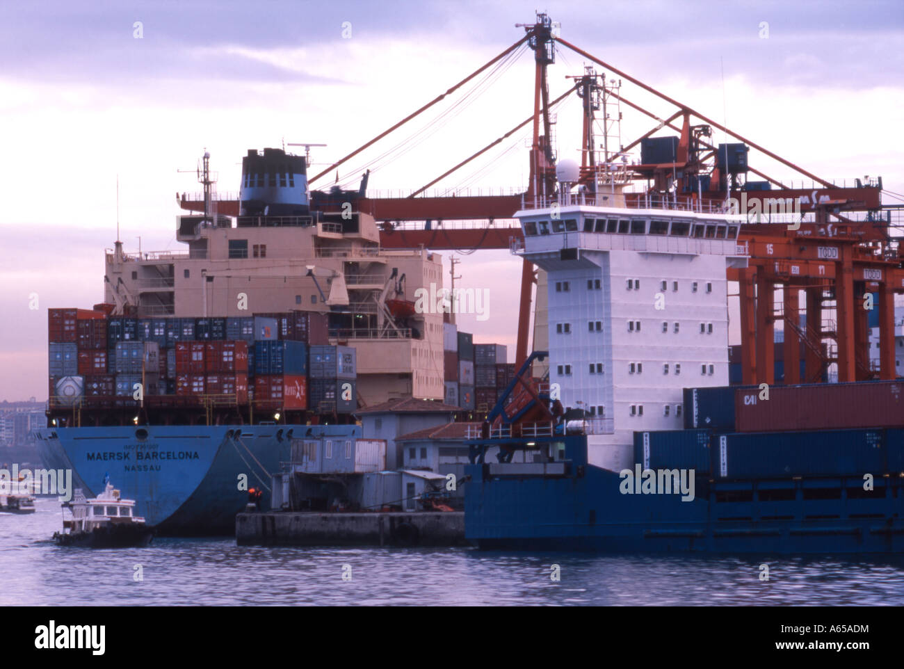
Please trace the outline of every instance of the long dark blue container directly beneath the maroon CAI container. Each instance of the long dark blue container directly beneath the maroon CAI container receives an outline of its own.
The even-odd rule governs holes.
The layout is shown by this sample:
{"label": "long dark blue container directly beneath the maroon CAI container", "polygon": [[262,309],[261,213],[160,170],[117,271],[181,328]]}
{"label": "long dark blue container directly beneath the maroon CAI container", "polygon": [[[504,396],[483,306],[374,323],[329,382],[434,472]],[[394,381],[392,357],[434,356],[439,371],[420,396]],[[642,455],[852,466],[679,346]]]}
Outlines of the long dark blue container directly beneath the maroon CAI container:
{"label": "long dark blue container directly beneath the maroon CAI container", "polygon": [[880,476],[887,471],[880,429],[748,432],[712,438],[713,475],[725,479]]}

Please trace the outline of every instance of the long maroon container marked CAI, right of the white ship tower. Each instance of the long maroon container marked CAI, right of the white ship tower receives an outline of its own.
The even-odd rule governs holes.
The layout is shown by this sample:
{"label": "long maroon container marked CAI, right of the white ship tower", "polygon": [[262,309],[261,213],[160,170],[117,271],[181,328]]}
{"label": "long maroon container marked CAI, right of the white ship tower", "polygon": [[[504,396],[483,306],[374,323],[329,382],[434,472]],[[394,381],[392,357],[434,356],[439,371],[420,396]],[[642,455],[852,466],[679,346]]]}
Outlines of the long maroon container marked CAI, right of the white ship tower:
{"label": "long maroon container marked CAI, right of the white ship tower", "polygon": [[739,432],[904,426],[904,382],[819,383],[735,392]]}

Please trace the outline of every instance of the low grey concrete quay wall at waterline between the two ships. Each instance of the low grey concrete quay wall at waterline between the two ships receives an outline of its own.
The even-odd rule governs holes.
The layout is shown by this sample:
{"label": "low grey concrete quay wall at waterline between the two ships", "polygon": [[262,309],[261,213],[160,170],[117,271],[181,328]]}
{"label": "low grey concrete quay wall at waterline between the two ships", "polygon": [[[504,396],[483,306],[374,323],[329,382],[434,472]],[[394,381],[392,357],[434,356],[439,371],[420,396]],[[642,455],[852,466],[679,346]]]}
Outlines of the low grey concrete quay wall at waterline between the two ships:
{"label": "low grey concrete quay wall at waterline between the two ships", "polygon": [[328,514],[274,511],[236,516],[240,546],[464,546],[464,512]]}

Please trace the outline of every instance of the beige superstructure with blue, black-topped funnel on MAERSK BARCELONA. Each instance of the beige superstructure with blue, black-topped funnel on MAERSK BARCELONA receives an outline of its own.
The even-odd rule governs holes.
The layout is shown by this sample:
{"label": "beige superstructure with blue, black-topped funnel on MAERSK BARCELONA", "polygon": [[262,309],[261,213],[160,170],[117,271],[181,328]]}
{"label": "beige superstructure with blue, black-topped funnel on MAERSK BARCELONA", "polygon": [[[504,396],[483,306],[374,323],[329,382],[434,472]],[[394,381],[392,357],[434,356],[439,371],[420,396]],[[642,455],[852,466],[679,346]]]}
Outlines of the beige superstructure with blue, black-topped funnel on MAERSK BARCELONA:
{"label": "beige superstructure with blue, black-topped funnel on MAERSK BARCELONA", "polygon": [[338,211],[312,206],[304,156],[249,151],[242,159],[239,216],[215,211],[206,167],[204,174],[208,211],[176,217],[176,239],[187,252],[127,254],[120,242],[108,250],[105,297],[117,313],[322,312],[331,341],[357,349],[363,404],[443,398],[442,314],[393,308],[413,304],[420,287],[442,286],[437,253],[381,249],[372,216],[354,210],[353,196],[343,203],[343,192],[332,196]]}

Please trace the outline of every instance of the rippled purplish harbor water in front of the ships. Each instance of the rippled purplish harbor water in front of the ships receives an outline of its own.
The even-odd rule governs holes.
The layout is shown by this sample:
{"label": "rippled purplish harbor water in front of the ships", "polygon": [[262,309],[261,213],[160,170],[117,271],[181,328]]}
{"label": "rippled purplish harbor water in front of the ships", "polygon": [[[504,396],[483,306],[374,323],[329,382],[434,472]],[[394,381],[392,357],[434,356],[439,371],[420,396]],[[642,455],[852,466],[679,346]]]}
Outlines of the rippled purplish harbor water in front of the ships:
{"label": "rippled purplish harbor water in front of the ships", "polygon": [[0,514],[0,605],[904,605],[901,556],[294,549],[229,538],[92,551],[56,546],[60,505],[42,497],[36,507]]}

